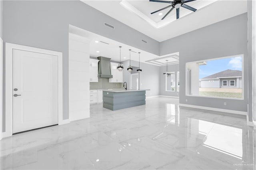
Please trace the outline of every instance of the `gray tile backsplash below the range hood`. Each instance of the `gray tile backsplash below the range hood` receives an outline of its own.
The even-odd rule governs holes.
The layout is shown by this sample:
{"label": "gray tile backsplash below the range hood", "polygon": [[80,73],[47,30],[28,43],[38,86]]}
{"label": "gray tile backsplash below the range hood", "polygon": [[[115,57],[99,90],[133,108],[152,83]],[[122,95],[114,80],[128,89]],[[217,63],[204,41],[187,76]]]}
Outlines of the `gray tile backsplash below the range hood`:
{"label": "gray tile backsplash below the range hood", "polygon": [[123,83],[109,83],[108,78],[98,78],[98,82],[91,82],[90,89],[120,89]]}

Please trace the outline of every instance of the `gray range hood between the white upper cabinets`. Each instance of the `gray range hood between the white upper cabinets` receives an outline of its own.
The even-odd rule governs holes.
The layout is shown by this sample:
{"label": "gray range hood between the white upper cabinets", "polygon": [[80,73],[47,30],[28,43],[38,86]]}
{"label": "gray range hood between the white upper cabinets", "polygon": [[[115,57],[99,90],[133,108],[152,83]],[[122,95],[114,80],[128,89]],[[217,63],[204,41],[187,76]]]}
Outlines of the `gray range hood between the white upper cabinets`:
{"label": "gray range hood between the white upper cabinets", "polygon": [[107,57],[97,57],[98,60],[98,78],[113,78],[110,72],[110,59]]}

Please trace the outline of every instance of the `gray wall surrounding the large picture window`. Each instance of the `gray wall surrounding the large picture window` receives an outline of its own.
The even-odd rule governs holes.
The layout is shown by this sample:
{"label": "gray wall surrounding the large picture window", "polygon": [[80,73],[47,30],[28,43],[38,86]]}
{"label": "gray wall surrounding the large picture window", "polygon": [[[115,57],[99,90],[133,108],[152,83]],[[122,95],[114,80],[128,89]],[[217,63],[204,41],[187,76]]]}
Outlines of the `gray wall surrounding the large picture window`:
{"label": "gray wall surrounding the large picture window", "polygon": [[[181,45],[182,44],[182,45]],[[180,53],[180,103],[247,111],[247,14],[194,30],[160,43],[160,55]],[[192,97],[185,94],[186,62],[244,54],[244,100]],[[186,102],[186,99],[188,100]],[[224,105],[224,102],[227,105]]]}

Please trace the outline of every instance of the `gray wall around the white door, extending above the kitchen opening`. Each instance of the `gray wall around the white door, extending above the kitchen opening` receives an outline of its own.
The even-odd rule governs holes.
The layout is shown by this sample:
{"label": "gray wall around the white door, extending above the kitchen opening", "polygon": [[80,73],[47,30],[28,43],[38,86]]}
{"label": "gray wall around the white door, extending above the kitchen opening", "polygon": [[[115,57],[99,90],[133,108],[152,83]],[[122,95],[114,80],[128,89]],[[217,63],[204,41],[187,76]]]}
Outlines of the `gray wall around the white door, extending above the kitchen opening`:
{"label": "gray wall around the white door, extending above the kitchen opening", "polygon": [[[16,43],[61,51],[63,53],[63,119],[68,119],[69,110],[69,24],[159,55],[159,43],[156,40],[122,24],[79,0],[4,1],[3,16],[4,43]],[[113,30],[104,26],[104,22],[112,24],[115,26],[115,29]],[[148,43],[143,43],[141,39],[146,40]],[[5,94],[3,94],[3,97],[5,97]],[[3,113],[3,126],[3,131],[5,131],[5,113]]]}

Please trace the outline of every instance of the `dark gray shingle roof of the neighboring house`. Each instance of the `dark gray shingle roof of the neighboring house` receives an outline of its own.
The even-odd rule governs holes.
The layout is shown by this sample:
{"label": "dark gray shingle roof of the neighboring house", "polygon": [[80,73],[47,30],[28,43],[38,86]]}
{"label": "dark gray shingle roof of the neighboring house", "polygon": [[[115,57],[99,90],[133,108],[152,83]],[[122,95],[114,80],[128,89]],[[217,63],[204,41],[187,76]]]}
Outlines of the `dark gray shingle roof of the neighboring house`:
{"label": "dark gray shingle roof of the neighboring house", "polygon": [[227,69],[225,71],[221,71],[221,72],[209,75],[207,77],[204,77],[202,79],[217,79],[221,77],[242,77],[242,71]]}

